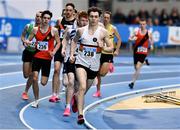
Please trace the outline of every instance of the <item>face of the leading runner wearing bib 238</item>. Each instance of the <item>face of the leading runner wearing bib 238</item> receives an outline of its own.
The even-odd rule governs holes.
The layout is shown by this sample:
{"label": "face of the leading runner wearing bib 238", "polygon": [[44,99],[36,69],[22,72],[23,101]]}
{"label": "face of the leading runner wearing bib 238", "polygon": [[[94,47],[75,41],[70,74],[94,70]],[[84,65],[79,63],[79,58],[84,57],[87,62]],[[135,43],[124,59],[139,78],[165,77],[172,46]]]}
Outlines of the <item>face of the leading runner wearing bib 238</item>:
{"label": "face of the leading runner wearing bib 238", "polygon": [[98,12],[90,12],[89,14],[89,24],[98,25],[99,23],[99,13]]}

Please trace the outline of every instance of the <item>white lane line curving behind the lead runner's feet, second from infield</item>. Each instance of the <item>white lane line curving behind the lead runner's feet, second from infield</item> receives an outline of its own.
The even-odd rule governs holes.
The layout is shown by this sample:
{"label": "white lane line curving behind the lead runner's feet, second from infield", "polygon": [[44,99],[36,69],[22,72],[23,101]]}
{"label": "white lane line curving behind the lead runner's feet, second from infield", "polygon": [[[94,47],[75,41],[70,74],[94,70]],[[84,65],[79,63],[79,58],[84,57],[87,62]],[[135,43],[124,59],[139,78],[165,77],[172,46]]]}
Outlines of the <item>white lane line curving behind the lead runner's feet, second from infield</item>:
{"label": "white lane line curving behind the lead runner's feet, second from infield", "polygon": [[[173,78],[158,78],[158,79],[146,79],[146,80],[139,80],[139,81],[137,81],[137,82],[147,82],[147,81],[157,81],[157,80],[167,80],[167,79],[177,79],[177,78],[180,78],[180,77],[173,77]],[[120,85],[120,84],[124,84],[124,83],[129,83],[130,81],[124,81],[124,82],[116,82],[116,83],[110,83],[110,84],[103,84],[102,86],[111,86],[111,85]],[[92,87],[96,87],[96,86],[92,86]],[[60,93],[60,94],[62,94],[62,93]],[[41,99],[39,99],[39,101],[42,101],[42,100],[44,100],[44,99],[47,99],[47,98],[49,98],[50,97],[50,95],[49,96],[46,96],[46,97],[44,97],[44,98],[41,98]],[[25,112],[25,110],[32,104],[33,102],[31,102],[31,103],[29,103],[29,104],[27,104],[26,106],[24,106],[22,109],[21,109],[21,111],[20,111],[20,113],[19,113],[19,117],[20,117],[20,120],[22,121],[22,123],[27,127],[27,128],[29,128],[29,129],[33,129],[30,125],[28,125],[27,124],[27,122],[25,121],[25,119],[24,119],[24,112]],[[87,121],[87,120],[86,120]],[[35,128],[34,128],[35,129]]]}

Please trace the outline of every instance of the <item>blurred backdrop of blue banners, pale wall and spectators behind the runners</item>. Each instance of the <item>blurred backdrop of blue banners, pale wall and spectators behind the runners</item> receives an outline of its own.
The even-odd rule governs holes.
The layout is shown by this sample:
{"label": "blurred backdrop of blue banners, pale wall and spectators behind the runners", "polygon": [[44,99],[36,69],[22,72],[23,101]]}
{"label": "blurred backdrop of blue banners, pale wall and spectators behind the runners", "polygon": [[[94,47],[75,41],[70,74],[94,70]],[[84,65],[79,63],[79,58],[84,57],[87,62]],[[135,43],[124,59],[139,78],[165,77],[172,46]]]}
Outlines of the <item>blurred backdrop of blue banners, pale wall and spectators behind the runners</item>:
{"label": "blurred backdrop of blue banners, pale wall and spectators behind the runners", "polygon": [[21,54],[20,35],[35,13],[49,9],[55,22],[62,9],[73,2],[77,10],[98,6],[112,12],[112,23],[122,38],[121,54],[131,54],[128,37],[138,27],[139,19],[146,17],[152,31],[155,50],[152,55],[179,55],[180,0],[0,0],[0,52]]}

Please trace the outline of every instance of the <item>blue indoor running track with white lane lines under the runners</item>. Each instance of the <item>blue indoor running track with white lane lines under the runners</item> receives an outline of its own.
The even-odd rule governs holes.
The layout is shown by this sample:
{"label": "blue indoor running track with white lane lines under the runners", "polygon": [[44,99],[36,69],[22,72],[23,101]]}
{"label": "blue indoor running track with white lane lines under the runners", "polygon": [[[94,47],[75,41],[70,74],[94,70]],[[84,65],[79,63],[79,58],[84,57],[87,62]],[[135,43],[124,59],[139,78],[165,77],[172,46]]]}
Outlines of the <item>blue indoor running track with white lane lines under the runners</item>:
{"label": "blue indoor running track with white lane lines under the runners", "polygon": [[[95,87],[89,90],[86,95],[86,126],[77,125],[77,115],[72,113],[70,117],[63,117],[63,110],[65,107],[64,93],[61,93],[61,101],[59,103],[49,103],[48,98],[51,94],[51,79],[50,75],[47,86],[40,86],[40,104],[38,109],[30,107],[33,101],[32,90],[30,89],[28,101],[21,100],[21,93],[24,90],[26,80],[22,76],[21,56],[20,55],[0,55],[0,128],[1,129],[85,129],[101,128],[101,129],[120,129],[120,128],[180,128],[179,123],[172,125],[164,124],[158,127],[152,127],[153,122],[146,124],[147,118],[144,118],[142,113],[142,124],[132,125],[128,123],[126,126],[121,124],[123,121],[120,117],[114,116],[112,113],[106,111],[106,108],[116,103],[117,99],[111,101],[105,100],[113,95],[121,97],[121,95],[128,95],[130,97],[136,96],[140,91],[146,92],[148,89],[157,89],[165,87],[179,87],[180,83],[180,57],[149,57],[150,66],[144,66],[141,75],[135,84],[135,89],[130,90],[128,83],[132,78],[134,72],[133,59],[128,56],[120,56],[114,59],[115,72],[108,74],[103,78],[102,97],[93,98],[92,94],[95,92]],[[53,68],[52,68],[53,69]],[[53,70],[52,70],[53,72]],[[123,100],[124,97],[118,100]],[[103,101],[101,103],[101,101]],[[97,105],[100,104],[100,105]],[[89,109],[92,106],[91,109]],[[117,111],[114,111],[115,113]],[[159,111],[158,113],[160,113]],[[117,112],[118,113],[118,112]],[[133,112],[137,114],[136,112]],[[157,112],[154,112],[157,113]],[[174,109],[174,116],[179,115],[179,109]],[[176,114],[175,114],[176,113]],[[132,113],[130,113],[132,114]],[[117,114],[115,114],[117,115]],[[172,115],[172,114],[171,114]],[[111,118],[108,118],[111,117]],[[178,117],[177,117],[178,118]],[[177,119],[176,118],[176,119]],[[132,118],[135,119],[135,118]],[[121,122],[118,122],[121,121]],[[144,121],[144,122],[143,122]],[[166,119],[168,122],[168,119]],[[127,122],[124,120],[124,122]],[[171,121],[169,121],[171,122]],[[114,125],[111,125],[113,123]],[[162,122],[164,123],[164,122]],[[145,127],[144,127],[145,126]]]}

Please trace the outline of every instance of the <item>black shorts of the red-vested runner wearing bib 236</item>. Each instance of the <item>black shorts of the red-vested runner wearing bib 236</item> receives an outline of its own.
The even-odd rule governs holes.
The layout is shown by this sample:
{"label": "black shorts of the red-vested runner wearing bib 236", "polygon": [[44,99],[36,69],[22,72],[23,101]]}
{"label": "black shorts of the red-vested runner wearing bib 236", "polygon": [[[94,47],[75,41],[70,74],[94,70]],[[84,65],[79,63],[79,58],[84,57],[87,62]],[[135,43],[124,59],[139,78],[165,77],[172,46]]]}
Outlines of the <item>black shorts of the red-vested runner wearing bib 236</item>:
{"label": "black shorts of the red-vested runner wearing bib 236", "polygon": [[39,72],[41,70],[42,76],[49,77],[50,69],[51,69],[51,60],[33,58],[32,71]]}

